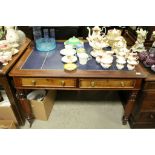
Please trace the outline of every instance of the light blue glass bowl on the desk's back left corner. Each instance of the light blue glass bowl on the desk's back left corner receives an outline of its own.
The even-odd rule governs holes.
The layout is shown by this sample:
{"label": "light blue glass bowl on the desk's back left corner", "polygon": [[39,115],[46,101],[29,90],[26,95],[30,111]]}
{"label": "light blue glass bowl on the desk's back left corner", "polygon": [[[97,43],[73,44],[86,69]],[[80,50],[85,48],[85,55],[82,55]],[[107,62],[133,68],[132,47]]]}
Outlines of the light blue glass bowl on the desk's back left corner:
{"label": "light blue glass bowl on the desk's back left corner", "polygon": [[54,38],[40,38],[36,40],[36,48],[41,52],[49,52],[56,48]]}

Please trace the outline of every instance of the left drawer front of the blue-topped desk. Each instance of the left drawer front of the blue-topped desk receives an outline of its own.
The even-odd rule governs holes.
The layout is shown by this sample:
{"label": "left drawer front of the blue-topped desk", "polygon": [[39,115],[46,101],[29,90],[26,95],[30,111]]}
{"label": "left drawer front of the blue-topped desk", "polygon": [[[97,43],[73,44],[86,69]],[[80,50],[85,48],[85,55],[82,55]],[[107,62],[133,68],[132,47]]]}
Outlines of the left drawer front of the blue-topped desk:
{"label": "left drawer front of the blue-topped desk", "polygon": [[72,78],[21,78],[21,86],[26,87],[76,87]]}

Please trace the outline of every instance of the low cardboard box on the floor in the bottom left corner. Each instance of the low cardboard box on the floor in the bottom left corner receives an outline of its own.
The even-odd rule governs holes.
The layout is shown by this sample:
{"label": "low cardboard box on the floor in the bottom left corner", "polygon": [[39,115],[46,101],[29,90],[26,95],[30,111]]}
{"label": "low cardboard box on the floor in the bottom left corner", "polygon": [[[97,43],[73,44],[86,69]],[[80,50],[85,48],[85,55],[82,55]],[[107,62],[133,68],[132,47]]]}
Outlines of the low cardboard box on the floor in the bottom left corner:
{"label": "low cardboard box on the floor in the bottom left corner", "polygon": [[16,129],[13,120],[0,120],[0,129]]}

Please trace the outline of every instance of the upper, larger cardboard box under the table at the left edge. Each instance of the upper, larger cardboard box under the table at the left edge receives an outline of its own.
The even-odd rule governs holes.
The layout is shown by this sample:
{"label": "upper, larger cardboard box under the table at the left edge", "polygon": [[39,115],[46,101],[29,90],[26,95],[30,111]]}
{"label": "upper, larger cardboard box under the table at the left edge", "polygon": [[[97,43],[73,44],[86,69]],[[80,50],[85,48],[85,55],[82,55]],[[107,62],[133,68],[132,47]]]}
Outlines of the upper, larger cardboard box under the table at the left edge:
{"label": "upper, larger cardboard box under the table at the left edge", "polygon": [[13,120],[18,123],[5,91],[1,91],[1,94],[4,100],[0,102],[0,120]]}

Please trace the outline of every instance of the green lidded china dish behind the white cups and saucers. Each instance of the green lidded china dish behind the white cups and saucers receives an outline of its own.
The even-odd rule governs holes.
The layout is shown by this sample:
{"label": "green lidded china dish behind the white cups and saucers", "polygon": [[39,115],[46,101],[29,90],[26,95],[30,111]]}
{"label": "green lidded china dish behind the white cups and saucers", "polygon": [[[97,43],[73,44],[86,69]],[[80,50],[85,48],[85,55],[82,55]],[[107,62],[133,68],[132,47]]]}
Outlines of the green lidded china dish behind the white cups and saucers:
{"label": "green lidded china dish behind the white cups and saucers", "polygon": [[65,41],[64,45],[72,45],[73,48],[84,47],[84,43],[80,39],[76,38],[75,36]]}

